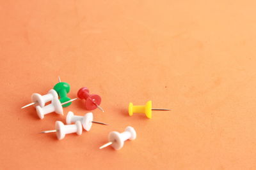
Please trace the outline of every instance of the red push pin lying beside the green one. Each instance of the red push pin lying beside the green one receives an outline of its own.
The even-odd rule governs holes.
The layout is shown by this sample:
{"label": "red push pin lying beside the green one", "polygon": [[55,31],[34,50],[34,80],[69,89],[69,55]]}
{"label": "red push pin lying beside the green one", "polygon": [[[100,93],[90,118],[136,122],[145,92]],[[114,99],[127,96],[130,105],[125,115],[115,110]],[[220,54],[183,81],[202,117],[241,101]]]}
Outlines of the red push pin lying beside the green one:
{"label": "red push pin lying beside the green one", "polygon": [[95,110],[96,108],[99,108],[104,112],[104,110],[99,106],[101,103],[101,97],[97,94],[89,94],[89,90],[86,87],[82,87],[78,90],[77,97],[85,100],[86,110]]}

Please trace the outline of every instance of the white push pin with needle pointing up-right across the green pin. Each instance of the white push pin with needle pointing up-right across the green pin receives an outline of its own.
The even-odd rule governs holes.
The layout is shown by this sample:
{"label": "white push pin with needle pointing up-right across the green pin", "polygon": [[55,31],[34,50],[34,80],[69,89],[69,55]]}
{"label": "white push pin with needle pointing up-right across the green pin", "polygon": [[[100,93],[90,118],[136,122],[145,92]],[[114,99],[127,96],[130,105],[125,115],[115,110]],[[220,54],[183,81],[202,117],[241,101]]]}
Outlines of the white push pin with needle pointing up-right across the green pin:
{"label": "white push pin with needle pointing up-right across the green pin", "polygon": [[52,113],[52,112],[56,112],[60,115],[63,115],[63,108],[61,105],[70,103],[76,99],[77,98],[71,99],[65,103],[60,103],[58,98],[54,98],[52,99],[52,103],[48,104],[47,106],[44,106],[44,107],[36,106],[36,113],[40,119],[43,119],[44,115],[47,115],[48,113]]}

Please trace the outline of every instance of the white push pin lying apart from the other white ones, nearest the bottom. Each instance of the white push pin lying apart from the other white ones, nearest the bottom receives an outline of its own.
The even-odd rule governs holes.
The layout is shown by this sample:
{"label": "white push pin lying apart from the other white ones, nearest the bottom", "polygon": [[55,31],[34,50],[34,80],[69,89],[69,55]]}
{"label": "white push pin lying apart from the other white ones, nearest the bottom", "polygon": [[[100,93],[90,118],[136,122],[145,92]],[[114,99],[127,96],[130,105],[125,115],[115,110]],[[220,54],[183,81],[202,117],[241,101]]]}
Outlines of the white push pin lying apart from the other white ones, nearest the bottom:
{"label": "white push pin lying apart from the other white ones, nearest the bottom", "polygon": [[115,148],[115,150],[120,150],[120,148],[124,146],[124,141],[126,141],[127,139],[136,139],[136,131],[131,126],[127,126],[125,128],[125,131],[122,133],[116,131],[110,132],[108,135],[109,142],[100,146],[100,149],[111,145],[113,148]]}

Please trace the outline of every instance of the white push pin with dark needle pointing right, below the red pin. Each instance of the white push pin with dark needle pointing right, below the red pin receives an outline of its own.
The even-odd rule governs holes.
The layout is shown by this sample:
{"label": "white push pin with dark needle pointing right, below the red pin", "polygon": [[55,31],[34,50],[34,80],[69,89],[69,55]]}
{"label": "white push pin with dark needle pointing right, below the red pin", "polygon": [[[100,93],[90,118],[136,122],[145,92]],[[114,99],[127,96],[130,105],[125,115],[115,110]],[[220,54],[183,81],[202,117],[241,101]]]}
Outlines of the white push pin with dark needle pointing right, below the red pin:
{"label": "white push pin with dark needle pointing right, below the red pin", "polygon": [[74,122],[77,122],[77,121],[80,121],[82,123],[83,128],[84,128],[85,131],[90,131],[90,129],[92,128],[92,123],[107,125],[107,124],[104,124],[102,122],[93,121],[92,112],[86,113],[83,117],[81,117],[81,116],[74,115],[74,113],[72,111],[68,111],[68,115],[66,117],[67,124],[70,125],[70,124],[72,124]]}

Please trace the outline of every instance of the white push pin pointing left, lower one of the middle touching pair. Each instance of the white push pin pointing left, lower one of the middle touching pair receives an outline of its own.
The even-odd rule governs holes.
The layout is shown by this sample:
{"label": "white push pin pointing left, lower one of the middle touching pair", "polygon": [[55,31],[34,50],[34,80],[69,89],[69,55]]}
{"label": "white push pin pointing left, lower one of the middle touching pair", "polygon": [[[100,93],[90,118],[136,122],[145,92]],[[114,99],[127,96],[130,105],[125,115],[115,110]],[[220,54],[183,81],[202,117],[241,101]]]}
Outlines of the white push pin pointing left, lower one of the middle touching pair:
{"label": "white push pin pointing left, lower one of the middle touching pair", "polygon": [[57,138],[61,140],[65,138],[66,134],[71,134],[76,132],[78,135],[81,135],[83,132],[83,127],[80,121],[77,121],[76,124],[74,125],[64,125],[62,122],[56,121],[55,130],[43,131],[41,133],[51,133],[51,132],[56,132]]}

